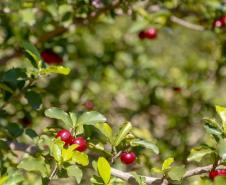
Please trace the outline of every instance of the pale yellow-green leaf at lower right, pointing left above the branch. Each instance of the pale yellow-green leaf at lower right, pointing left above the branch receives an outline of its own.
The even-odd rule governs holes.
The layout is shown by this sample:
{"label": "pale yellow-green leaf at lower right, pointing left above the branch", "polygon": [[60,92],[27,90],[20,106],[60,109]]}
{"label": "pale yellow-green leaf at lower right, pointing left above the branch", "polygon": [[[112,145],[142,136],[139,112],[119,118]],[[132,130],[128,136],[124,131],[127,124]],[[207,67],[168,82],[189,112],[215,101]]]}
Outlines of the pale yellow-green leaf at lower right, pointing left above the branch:
{"label": "pale yellow-green leaf at lower right, pointing left above the branch", "polygon": [[214,151],[209,148],[193,148],[188,156],[188,161],[200,162],[203,157],[212,153],[214,153]]}

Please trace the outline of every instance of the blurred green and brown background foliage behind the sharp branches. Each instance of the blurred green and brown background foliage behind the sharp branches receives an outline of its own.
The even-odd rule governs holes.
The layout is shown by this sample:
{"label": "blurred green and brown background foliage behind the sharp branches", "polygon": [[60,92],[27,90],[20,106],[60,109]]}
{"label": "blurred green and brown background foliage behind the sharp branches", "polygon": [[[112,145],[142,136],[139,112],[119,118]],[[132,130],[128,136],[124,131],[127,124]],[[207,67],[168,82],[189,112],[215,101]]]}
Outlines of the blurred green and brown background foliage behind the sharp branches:
{"label": "blurred green and brown background foliage behind the sharp branches", "polygon": [[[35,43],[40,52],[52,49],[72,70],[68,76],[51,75],[37,81],[36,90],[42,96],[38,111],[23,96],[11,100],[1,110],[1,124],[27,119],[40,133],[57,124],[44,118],[46,108],[84,111],[84,102],[90,100],[113,128],[130,120],[137,127],[136,135],[155,138],[160,155],[151,157],[137,149],[143,155],[132,169],[150,174],[151,167],[169,156],[186,164],[190,149],[205,139],[202,118],[215,114],[215,104],[226,104],[225,28],[212,28],[213,21],[225,14],[226,2],[133,0],[115,7],[112,3],[0,2],[2,75],[12,67],[31,68],[21,55],[23,40]],[[92,16],[98,10],[98,16]],[[175,23],[172,16],[203,30]],[[158,30],[157,38],[139,39],[139,31],[148,27]],[[56,28],[59,34],[48,35]],[[17,57],[5,58],[12,53]]]}

